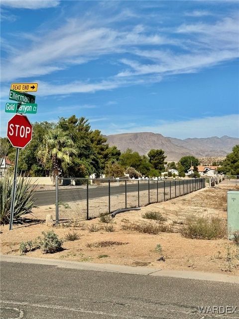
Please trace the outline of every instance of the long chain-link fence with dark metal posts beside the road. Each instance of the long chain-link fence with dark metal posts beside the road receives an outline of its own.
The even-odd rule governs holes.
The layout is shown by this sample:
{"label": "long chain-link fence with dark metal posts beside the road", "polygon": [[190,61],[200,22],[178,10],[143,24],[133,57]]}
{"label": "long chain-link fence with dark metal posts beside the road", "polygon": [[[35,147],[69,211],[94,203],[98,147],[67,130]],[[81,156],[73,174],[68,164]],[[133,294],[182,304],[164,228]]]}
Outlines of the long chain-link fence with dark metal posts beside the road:
{"label": "long chain-link fence with dark metal posts beside the road", "polygon": [[145,206],[205,187],[205,178],[181,180],[57,178],[56,222],[91,219],[122,208]]}

